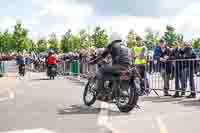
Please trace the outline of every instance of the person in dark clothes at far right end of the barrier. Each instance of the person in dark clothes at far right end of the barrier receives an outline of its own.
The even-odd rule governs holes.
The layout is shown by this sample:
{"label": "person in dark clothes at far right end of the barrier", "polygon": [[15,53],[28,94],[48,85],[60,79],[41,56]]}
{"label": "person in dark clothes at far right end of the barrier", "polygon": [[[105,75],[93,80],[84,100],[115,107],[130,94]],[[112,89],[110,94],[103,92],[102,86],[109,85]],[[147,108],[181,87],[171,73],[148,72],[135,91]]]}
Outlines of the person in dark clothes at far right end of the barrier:
{"label": "person in dark clothes at far right end of the barrier", "polygon": [[194,72],[195,72],[195,65],[196,65],[196,54],[192,49],[192,45],[190,42],[185,42],[185,48],[183,49],[183,80],[184,90],[187,88],[187,80],[189,79],[191,93],[187,96],[187,98],[196,98],[196,89],[194,83]]}

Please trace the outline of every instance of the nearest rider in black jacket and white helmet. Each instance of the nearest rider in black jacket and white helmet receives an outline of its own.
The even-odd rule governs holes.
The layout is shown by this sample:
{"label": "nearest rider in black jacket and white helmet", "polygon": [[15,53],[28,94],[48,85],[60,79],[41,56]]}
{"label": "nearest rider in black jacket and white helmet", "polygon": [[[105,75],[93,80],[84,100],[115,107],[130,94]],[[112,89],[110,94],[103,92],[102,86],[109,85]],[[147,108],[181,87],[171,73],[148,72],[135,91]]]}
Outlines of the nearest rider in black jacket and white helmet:
{"label": "nearest rider in black jacket and white helmet", "polygon": [[[127,47],[127,44],[123,41],[120,34],[113,32],[110,36],[110,43],[104,49],[101,56],[98,56],[96,59],[91,60],[90,64],[96,64],[103,58],[106,58],[108,55],[112,57],[112,65],[106,65],[99,68],[97,72],[97,92],[104,92],[102,90],[104,85],[104,80],[112,78],[113,73],[116,73],[120,70],[127,70],[133,64],[132,51]],[[97,97],[102,97],[102,93],[98,93]]]}

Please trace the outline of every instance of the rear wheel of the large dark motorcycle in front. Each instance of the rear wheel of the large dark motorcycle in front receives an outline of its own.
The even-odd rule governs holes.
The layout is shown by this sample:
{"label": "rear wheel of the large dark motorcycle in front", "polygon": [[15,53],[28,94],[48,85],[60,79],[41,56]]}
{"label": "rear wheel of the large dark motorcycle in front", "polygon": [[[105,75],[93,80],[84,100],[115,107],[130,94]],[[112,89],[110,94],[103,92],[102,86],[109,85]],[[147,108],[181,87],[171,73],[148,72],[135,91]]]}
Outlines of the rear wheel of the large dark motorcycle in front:
{"label": "rear wheel of the large dark motorcycle in front", "polygon": [[117,99],[117,107],[121,112],[130,112],[138,102],[139,95],[134,87],[128,87],[126,90],[120,89],[120,96]]}

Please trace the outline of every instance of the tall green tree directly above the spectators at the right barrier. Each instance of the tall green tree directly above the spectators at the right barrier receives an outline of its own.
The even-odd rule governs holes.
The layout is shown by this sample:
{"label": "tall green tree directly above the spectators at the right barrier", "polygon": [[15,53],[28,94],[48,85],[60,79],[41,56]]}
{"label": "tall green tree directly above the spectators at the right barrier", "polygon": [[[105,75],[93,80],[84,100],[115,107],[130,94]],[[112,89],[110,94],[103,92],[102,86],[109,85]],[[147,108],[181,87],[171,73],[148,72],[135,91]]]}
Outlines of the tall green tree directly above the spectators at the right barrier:
{"label": "tall green tree directly above the spectators at the right barrier", "polygon": [[177,34],[176,34],[176,31],[175,31],[175,28],[172,27],[171,25],[167,25],[166,27],[166,32],[165,32],[165,35],[164,35],[164,39],[167,43],[167,45],[172,45],[175,41],[177,41]]}

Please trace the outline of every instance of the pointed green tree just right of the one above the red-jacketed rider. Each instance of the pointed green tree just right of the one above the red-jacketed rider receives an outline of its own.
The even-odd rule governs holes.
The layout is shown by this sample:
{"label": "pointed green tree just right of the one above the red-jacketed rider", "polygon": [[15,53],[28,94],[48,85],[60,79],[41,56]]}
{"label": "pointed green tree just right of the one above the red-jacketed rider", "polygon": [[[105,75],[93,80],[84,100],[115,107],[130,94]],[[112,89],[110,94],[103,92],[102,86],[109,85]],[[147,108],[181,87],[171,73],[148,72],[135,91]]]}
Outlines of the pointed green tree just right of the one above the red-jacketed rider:
{"label": "pointed green tree just right of the one above the red-jacketed rider", "polygon": [[71,30],[69,29],[65,33],[65,35],[62,36],[62,39],[60,42],[62,52],[68,53],[68,52],[70,52],[70,50],[72,50],[72,44],[70,42],[71,37],[72,37],[72,33],[71,33]]}

